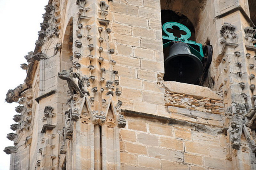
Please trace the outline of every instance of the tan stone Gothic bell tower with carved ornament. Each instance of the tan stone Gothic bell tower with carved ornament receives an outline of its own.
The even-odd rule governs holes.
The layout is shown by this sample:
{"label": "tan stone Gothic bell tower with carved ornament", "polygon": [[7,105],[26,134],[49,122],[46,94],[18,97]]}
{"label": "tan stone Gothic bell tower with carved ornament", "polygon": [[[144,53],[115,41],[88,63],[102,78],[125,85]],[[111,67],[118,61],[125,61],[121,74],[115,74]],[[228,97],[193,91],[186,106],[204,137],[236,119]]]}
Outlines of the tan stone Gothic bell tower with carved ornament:
{"label": "tan stone Gothic bell tower with carved ornament", "polygon": [[[25,83],[6,96],[20,104],[10,169],[256,169],[255,7],[49,0]],[[164,79],[178,40],[202,50],[191,84]]]}

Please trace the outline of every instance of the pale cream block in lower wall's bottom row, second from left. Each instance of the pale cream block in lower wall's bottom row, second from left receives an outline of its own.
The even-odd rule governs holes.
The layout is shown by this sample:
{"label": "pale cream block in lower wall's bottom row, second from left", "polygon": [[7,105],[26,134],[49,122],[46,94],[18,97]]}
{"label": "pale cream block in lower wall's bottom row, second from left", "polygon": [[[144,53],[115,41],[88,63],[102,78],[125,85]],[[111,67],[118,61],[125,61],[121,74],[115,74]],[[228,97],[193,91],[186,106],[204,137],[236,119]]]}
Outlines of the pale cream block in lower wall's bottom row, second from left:
{"label": "pale cream block in lower wall's bottom row, second from left", "polygon": [[148,156],[138,156],[138,165],[147,168],[161,169],[161,161],[157,158],[150,158]]}

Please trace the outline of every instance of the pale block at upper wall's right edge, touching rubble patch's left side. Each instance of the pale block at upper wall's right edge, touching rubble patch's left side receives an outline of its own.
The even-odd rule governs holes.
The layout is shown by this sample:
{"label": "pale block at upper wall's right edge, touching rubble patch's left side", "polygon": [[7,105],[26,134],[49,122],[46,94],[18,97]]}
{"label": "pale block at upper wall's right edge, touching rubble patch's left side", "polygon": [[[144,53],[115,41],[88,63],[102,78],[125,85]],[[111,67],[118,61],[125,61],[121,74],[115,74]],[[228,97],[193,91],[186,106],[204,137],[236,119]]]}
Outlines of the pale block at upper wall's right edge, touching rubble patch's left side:
{"label": "pale block at upper wall's right edge, touching rubble patch's left side", "polygon": [[143,101],[154,104],[164,103],[164,93],[152,93],[150,91],[142,91]]}

